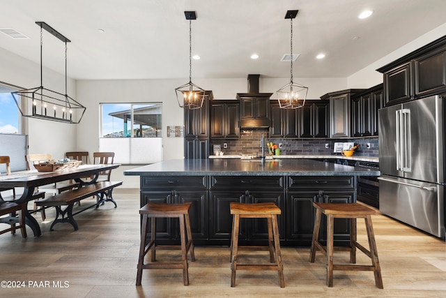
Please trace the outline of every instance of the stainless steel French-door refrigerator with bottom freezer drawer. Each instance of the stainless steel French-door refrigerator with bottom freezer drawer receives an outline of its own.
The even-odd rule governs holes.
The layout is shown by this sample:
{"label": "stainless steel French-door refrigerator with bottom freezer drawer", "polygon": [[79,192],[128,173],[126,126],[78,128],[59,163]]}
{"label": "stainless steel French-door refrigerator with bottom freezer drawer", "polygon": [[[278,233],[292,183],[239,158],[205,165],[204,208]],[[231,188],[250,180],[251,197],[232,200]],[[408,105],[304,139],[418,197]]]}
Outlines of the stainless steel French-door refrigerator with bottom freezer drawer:
{"label": "stainless steel French-door refrigerator with bottom freezer drawer", "polygon": [[385,107],[378,117],[380,211],[444,239],[443,98]]}

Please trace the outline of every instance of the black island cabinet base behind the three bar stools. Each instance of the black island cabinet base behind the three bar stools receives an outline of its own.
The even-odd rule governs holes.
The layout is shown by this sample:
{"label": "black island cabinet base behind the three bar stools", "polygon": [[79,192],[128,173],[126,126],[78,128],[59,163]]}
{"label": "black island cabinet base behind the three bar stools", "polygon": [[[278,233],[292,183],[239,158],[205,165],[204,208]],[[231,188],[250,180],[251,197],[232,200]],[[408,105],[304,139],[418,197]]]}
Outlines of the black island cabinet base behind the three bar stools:
{"label": "black island cabinet base behind the three bar stools", "polygon": [[[229,246],[233,225],[231,202],[273,202],[282,210],[277,216],[282,245],[309,246],[314,227],[313,202],[356,202],[356,181],[351,176],[141,177],[141,206],[148,202],[192,202],[190,222],[194,244]],[[157,218],[156,230],[160,244],[179,243],[178,219]],[[336,245],[348,244],[348,233],[348,221],[335,219]],[[319,234],[325,239],[325,216]],[[266,218],[241,218],[239,241],[240,245],[265,245]]]}

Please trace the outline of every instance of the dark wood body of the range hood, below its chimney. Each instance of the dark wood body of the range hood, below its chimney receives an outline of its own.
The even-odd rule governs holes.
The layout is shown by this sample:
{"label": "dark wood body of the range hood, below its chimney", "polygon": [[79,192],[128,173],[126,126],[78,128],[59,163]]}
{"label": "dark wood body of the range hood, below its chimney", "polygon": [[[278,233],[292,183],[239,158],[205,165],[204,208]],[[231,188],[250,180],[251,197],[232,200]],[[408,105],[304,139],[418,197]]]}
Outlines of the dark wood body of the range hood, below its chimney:
{"label": "dark wood body of the range hood, below its chimney", "polygon": [[240,127],[270,126],[270,96],[268,94],[237,94],[240,100]]}

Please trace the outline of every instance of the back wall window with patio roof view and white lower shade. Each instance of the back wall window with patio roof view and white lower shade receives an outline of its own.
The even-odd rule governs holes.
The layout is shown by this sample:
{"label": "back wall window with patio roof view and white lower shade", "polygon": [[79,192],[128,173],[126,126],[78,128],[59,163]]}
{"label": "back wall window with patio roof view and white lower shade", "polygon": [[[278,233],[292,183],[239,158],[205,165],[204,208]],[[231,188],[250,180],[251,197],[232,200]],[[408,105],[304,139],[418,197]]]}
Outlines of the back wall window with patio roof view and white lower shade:
{"label": "back wall window with patio roof view and white lower shade", "polygon": [[101,103],[100,151],[115,153],[114,162],[162,161],[161,103]]}

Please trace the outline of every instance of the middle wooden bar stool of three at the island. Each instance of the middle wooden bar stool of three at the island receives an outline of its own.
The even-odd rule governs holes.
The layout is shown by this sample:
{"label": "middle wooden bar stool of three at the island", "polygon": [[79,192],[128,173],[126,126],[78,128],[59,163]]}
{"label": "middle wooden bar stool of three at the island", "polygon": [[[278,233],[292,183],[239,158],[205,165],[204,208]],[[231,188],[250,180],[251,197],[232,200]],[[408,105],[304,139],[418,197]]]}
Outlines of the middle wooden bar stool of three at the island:
{"label": "middle wooden bar stool of three at the island", "polygon": [[[236,286],[236,271],[239,270],[277,270],[279,273],[280,288],[285,287],[282,255],[280,254],[279,227],[277,214],[281,214],[279,207],[274,203],[245,204],[231,202],[233,214],[233,227],[231,237],[231,287]],[[268,246],[271,265],[240,265],[237,264],[238,232],[240,218],[267,218],[268,220]],[[253,248],[256,248],[255,246]]]}

